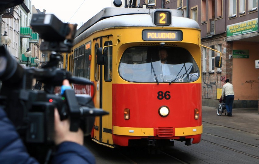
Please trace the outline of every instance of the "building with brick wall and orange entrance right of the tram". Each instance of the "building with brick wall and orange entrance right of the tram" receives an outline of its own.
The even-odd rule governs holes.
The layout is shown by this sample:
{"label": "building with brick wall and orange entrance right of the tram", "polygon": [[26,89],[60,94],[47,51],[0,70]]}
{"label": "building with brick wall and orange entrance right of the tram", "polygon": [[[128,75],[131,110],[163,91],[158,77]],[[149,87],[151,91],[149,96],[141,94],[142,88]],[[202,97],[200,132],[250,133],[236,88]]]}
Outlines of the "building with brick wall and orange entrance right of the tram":
{"label": "building with brick wall and orange entrance right of the tram", "polygon": [[[145,2],[145,3],[144,3]],[[202,104],[217,107],[226,79],[234,86],[234,108],[258,107],[258,0],[145,0],[140,6],[180,9],[197,21],[202,47]]]}

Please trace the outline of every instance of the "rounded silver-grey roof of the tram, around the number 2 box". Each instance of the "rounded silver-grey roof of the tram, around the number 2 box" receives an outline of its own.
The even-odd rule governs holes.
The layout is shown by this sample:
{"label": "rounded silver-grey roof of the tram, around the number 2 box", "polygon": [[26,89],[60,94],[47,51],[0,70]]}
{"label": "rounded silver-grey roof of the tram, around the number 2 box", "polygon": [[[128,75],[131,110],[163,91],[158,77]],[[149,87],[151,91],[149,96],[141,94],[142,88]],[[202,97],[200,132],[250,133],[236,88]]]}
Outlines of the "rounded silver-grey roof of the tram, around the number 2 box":
{"label": "rounded silver-grey roof of the tram, around the number 2 box", "polygon": [[[109,28],[109,27],[126,27],[126,26],[156,26],[150,21],[150,14],[157,9],[142,8],[104,8],[94,17],[89,19],[81,26],[75,34],[74,43],[89,36],[92,32]],[[168,9],[159,9],[168,10]],[[172,25],[169,27],[183,27],[200,29],[199,24],[188,18],[183,18],[181,10],[170,9],[172,13]],[[131,15],[138,14],[138,20]],[[109,18],[109,19],[108,19]],[[161,27],[161,26],[160,26]],[[88,30],[87,30],[88,29]],[[87,31],[86,31],[87,30]],[[82,34],[80,37],[78,37]]]}

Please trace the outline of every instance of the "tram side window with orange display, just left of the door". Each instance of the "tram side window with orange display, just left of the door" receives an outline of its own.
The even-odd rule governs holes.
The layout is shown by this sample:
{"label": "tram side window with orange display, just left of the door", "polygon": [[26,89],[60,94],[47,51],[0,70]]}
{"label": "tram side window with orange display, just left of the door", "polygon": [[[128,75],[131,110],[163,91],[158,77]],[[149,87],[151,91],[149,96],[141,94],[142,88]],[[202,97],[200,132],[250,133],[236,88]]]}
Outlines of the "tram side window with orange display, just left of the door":
{"label": "tram side window with orange display, just left of the door", "polygon": [[91,41],[85,44],[85,58],[84,58],[84,77],[90,79],[90,64],[89,56],[91,55]]}

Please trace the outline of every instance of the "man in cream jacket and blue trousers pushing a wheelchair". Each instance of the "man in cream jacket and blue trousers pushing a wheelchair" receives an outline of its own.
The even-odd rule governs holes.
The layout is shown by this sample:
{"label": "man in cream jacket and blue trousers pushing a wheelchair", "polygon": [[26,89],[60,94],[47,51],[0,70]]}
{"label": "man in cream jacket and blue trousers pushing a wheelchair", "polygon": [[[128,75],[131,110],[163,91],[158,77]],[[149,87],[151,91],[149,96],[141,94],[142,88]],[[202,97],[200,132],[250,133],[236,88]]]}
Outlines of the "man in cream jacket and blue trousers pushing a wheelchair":
{"label": "man in cream jacket and blue trousers pushing a wheelchair", "polygon": [[226,79],[226,84],[222,87],[222,97],[226,97],[225,106],[227,110],[227,116],[232,116],[232,107],[234,101],[234,88],[233,85],[230,84],[229,79]]}

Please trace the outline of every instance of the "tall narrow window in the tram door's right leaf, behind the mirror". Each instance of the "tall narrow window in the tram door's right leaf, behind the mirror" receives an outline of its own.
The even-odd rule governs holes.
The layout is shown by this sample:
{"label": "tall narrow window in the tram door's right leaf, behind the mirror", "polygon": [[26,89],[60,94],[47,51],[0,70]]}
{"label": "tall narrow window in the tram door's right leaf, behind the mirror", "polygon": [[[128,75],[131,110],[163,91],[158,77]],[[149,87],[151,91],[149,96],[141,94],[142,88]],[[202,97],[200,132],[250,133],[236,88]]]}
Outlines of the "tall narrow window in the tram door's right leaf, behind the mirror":
{"label": "tall narrow window in the tram door's right leaf, behind the mirror", "polygon": [[[112,45],[112,41],[104,43],[104,46]],[[112,46],[107,47],[107,58],[104,65],[104,80],[112,81]]]}

